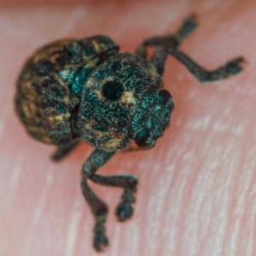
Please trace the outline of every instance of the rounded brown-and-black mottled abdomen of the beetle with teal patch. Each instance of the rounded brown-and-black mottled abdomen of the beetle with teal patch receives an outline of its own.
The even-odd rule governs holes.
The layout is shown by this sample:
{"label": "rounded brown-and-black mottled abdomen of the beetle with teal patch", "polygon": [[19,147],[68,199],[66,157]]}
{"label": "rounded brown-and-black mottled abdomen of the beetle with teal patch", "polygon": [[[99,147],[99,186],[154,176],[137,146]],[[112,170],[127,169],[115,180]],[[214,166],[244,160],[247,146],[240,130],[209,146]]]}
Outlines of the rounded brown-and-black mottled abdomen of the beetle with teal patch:
{"label": "rounded brown-and-black mottled abdomen of the beetle with teal patch", "polygon": [[32,55],[20,73],[15,108],[28,133],[62,145],[78,137],[79,96],[90,72],[118,52],[105,36],[61,40]]}

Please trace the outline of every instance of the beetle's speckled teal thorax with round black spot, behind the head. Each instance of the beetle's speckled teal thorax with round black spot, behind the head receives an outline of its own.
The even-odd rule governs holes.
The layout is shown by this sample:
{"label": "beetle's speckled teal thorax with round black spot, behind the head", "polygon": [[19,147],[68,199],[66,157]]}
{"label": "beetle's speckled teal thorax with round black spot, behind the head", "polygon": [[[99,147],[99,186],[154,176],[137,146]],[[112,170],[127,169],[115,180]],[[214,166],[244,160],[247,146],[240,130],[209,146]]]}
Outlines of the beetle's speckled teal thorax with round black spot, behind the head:
{"label": "beetle's speckled teal thorax with round black spot, behind the head", "polygon": [[160,87],[160,76],[148,61],[122,53],[105,61],[86,81],[79,108],[80,137],[96,148],[127,147],[128,127],[149,88]]}

